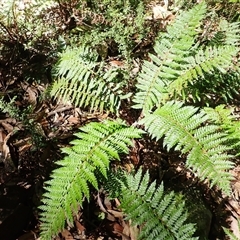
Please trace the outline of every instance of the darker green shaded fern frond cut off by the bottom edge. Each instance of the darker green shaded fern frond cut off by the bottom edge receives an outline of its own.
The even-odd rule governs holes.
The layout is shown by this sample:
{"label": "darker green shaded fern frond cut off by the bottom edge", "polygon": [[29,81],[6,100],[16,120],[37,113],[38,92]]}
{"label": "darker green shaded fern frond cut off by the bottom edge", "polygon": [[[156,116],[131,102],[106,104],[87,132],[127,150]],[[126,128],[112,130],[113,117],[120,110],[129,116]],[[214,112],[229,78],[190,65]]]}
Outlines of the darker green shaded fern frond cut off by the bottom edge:
{"label": "darker green shaded fern frond cut off by the bottom edge", "polygon": [[142,177],[140,169],[135,176],[127,175],[122,182],[121,208],[134,225],[141,227],[138,239],[198,239],[194,238],[194,224],[185,224],[187,213],[184,201],[174,192],[165,193],[163,185],[149,185],[148,172]]}

